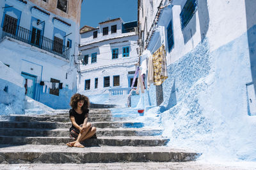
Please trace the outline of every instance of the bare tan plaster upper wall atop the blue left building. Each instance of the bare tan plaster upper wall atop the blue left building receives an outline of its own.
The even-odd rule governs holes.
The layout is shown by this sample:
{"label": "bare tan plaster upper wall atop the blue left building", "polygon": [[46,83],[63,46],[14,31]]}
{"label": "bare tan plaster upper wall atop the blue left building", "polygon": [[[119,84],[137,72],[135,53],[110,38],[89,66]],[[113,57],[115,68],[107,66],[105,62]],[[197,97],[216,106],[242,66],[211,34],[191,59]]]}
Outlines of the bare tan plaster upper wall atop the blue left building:
{"label": "bare tan plaster upper wall atop the blue left building", "polygon": [[57,0],[48,0],[48,3],[45,3],[42,0],[29,0],[32,3],[44,8],[51,13],[59,15],[63,18],[69,18],[80,25],[80,17],[81,17],[81,4],[82,0],[71,0],[68,2],[68,13],[61,11],[57,8]]}

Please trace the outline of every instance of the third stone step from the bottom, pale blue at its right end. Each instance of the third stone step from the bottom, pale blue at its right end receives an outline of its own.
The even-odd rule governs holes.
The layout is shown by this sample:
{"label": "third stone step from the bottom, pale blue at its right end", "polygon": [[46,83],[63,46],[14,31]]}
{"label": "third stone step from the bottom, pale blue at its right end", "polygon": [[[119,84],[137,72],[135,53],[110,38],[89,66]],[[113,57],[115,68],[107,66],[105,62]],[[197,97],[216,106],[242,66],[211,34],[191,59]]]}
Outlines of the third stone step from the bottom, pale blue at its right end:
{"label": "third stone step from the bottom, pale blue at its right end", "polygon": [[[97,136],[158,136],[161,129],[148,128],[97,128]],[[69,129],[24,129],[24,128],[0,128],[3,136],[69,136]]]}

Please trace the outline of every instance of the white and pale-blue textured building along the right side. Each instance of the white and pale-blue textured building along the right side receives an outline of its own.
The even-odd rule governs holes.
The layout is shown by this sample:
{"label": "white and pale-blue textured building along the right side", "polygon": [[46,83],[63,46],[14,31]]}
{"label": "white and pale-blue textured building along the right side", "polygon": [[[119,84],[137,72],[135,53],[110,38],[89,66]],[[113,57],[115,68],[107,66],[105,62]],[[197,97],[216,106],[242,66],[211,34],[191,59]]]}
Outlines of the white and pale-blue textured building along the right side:
{"label": "white and pale-blue textured building along the right side", "polygon": [[255,160],[256,1],[138,4],[142,63],[166,50],[168,78],[149,89],[164,135],[203,157]]}

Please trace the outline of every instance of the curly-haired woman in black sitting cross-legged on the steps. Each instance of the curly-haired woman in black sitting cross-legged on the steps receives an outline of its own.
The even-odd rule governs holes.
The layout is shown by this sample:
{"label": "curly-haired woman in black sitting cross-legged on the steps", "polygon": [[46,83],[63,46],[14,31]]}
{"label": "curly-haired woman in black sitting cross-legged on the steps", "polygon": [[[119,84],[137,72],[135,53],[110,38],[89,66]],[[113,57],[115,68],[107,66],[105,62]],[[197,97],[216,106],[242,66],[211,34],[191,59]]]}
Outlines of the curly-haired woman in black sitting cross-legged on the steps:
{"label": "curly-haired woman in black sitting cross-legged on the steps", "polygon": [[81,94],[74,94],[70,99],[69,117],[72,122],[70,127],[70,137],[76,139],[73,142],[67,143],[68,146],[84,148],[81,141],[89,139],[95,134],[96,127],[92,127],[90,122],[87,122],[89,115],[90,102],[88,97]]}

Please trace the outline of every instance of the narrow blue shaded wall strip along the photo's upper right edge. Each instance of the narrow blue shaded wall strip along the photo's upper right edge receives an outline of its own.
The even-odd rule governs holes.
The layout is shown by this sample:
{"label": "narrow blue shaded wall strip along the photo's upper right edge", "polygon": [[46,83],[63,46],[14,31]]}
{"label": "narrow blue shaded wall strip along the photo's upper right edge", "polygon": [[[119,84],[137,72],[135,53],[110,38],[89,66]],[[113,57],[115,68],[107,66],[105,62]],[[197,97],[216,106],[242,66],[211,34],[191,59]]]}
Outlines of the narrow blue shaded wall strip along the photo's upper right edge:
{"label": "narrow blue shaded wall strip along the photo's upper right edge", "polygon": [[[256,93],[256,1],[245,0],[246,25],[248,34],[248,46],[250,52],[250,62],[252,71],[252,80]],[[256,95],[256,94],[255,94]]]}

